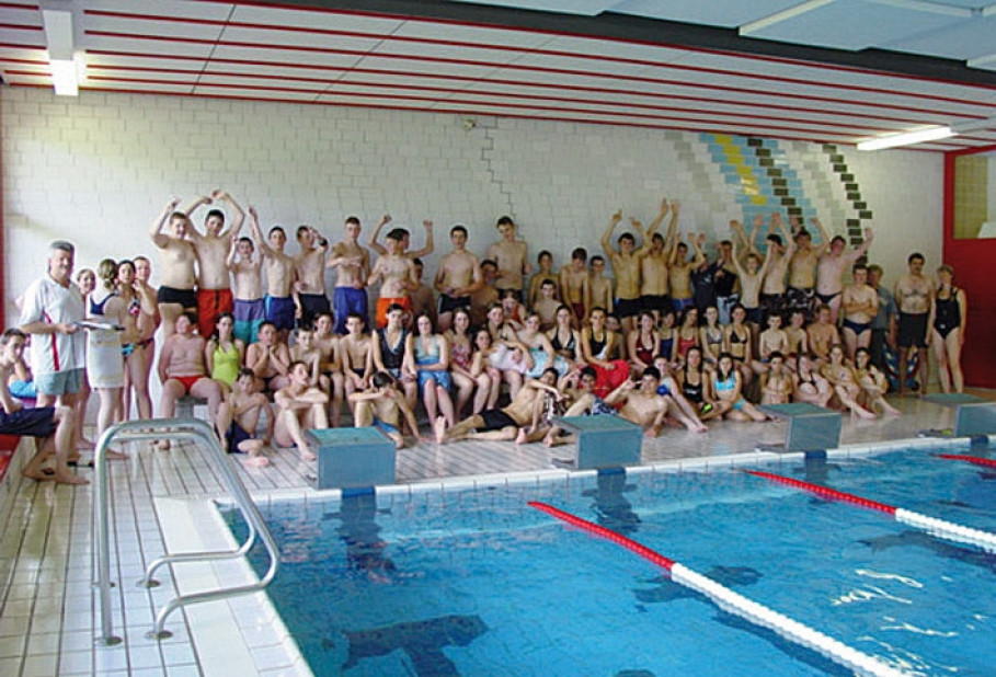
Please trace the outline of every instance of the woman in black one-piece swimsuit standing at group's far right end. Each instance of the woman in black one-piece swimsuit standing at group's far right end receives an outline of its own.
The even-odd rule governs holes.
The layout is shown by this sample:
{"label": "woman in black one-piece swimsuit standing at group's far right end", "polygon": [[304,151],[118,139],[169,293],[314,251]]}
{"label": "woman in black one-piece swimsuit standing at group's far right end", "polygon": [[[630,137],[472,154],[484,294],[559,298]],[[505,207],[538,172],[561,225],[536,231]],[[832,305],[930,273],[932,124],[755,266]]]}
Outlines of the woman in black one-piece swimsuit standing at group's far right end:
{"label": "woman in black one-piece swimsuit standing at group's far right end", "polygon": [[965,315],[968,299],[964,289],[959,289],[954,282],[954,269],[942,265],[937,269],[937,294],[934,295],[934,324],[930,328],[930,341],[934,344],[934,356],[937,358],[937,375],[941,390],[962,392],[965,379],[961,371],[961,346],[965,342]]}

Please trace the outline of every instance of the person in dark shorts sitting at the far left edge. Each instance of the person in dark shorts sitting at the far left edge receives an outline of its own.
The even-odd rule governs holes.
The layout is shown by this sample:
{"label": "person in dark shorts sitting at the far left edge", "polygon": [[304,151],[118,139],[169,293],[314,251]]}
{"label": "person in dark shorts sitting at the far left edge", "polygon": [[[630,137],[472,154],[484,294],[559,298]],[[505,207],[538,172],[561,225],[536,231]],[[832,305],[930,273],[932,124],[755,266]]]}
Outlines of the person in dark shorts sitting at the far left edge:
{"label": "person in dark shorts sitting at the far left edge", "polygon": [[[69,445],[72,441],[72,410],[68,406],[24,409],[7,389],[14,367],[21,360],[26,335],[9,329],[0,335],[0,435],[31,435],[39,438],[36,451],[21,473],[32,480],[51,480],[59,484],[88,484],[69,471]],[[45,470],[42,463],[55,451],[56,464]]]}

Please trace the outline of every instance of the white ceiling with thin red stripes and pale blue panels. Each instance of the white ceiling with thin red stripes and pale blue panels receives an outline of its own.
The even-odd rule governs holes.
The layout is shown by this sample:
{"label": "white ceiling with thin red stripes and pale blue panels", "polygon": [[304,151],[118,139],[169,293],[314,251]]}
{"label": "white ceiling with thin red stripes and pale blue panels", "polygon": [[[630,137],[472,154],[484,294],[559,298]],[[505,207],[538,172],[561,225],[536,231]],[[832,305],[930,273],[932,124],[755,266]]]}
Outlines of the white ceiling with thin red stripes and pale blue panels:
{"label": "white ceiling with thin red stripes and pale blue panels", "polygon": [[[407,18],[263,2],[77,1],[83,10],[79,46],[87,50],[90,64],[84,89],[569,119],[843,144],[996,115],[996,80],[972,85],[937,74],[895,76],[882,68],[814,62],[806,60],[812,53],[798,49],[786,56],[746,54],[700,44],[683,46],[676,39],[657,44],[646,33],[632,39],[571,35],[550,27],[553,24],[543,24],[546,30],[530,22],[485,25],[456,14]],[[608,9],[648,21],[660,16],[729,28],[795,3],[606,0],[582,5],[548,0],[543,7],[581,14]],[[523,4],[535,7],[525,0]],[[433,7],[438,11],[445,3]],[[907,44],[917,51],[935,48],[931,45],[943,43],[946,35],[957,36],[948,42],[960,42],[962,20],[909,7],[914,5],[897,0],[835,0],[774,23],[763,34],[787,39],[785,35],[794,31],[806,35],[800,38],[805,44],[817,41],[845,47],[893,41],[893,48]],[[492,8],[489,15],[501,11]],[[842,19],[842,13],[849,16]],[[13,85],[50,84],[38,18],[36,4],[25,11],[0,2],[0,67]],[[616,14],[616,31],[619,21]],[[986,31],[980,32],[978,26],[987,23],[971,24],[973,35],[961,42],[985,37]],[[19,30],[12,24],[35,28]],[[666,35],[680,35],[676,25],[668,24]],[[31,36],[26,42],[25,34]],[[986,48],[993,53],[994,46],[996,39]],[[996,58],[992,65],[996,68]],[[924,148],[977,146],[993,139],[996,130]]]}

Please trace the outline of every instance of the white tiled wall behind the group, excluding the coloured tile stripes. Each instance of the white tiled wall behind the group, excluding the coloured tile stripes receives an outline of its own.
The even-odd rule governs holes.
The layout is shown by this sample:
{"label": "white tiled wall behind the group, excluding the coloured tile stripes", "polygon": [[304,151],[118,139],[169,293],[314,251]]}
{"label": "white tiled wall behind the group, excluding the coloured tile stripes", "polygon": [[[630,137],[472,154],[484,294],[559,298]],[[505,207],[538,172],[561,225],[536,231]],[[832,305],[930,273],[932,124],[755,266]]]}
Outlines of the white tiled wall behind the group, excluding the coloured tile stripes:
{"label": "white tiled wall behind the group, excluding the coloured tile stripes", "polygon": [[[512,214],[533,254],[550,249],[557,265],[577,244],[597,250],[620,207],[650,220],[662,196],[679,197],[683,227],[710,236],[725,236],[740,214],[692,134],[494,117],[471,127],[449,114],[160,95],[8,89],[0,99],[9,320],[10,301],[43,271],[50,240],[75,241],[78,265],[141,253],[154,266],[146,233],[162,205],[217,187],[255,205],[264,229],[308,222],[336,236],[350,214],[371,226],[387,211],[419,245],[421,221],[432,218],[437,252],[457,221],[483,252],[495,218]],[[822,154],[816,146],[783,148],[799,169]],[[941,156],[844,152],[874,213],[871,257],[886,279],[914,249],[932,265]],[[828,161],[825,171],[839,181]],[[845,205],[837,214],[851,213]]]}

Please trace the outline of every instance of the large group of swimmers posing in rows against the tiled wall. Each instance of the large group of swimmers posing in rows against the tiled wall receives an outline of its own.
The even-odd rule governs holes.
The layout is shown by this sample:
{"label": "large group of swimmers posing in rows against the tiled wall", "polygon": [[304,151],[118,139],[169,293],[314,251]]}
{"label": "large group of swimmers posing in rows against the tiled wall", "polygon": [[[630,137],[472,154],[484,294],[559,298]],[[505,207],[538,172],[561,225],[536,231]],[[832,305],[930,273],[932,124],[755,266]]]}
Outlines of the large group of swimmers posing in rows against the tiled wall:
{"label": "large group of swimmers posing in rows against the tiled wall", "polygon": [[[902,372],[911,349],[920,352],[926,369],[932,340],[945,367],[942,387],[963,387],[958,355],[964,291],[952,286],[947,266],[935,285],[923,275],[923,256],[914,254],[909,274],[895,286],[893,308],[892,295],[879,285],[881,268],[860,263],[872,242],[870,229],[848,251],[844,238],[831,238],[818,219],[812,219],[820,233],[814,244],[797,219],[786,223],[776,213],[763,250],[756,243],[763,217],[749,227],[732,221],[732,239],[719,242],[710,261],[705,236],[683,238],[680,205],[664,199],[645,228],[630,218],[632,231],[615,241],[622,213],[614,214],[602,236],[604,256],[588,261],[587,251],[576,248],[554,272],[552,254],[540,252],[528,278],[527,244],[512,218],[502,217],[501,238],[483,261],[467,250],[468,229],[454,226],[451,250],[428,285],[422,257],[434,249],[431,220],[423,221],[424,248],[414,252],[402,228],[379,242],[391,223],[387,215],[369,249],[359,243],[356,217],[345,220],[335,243],[300,226],[291,256],[284,251],[283,228],[271,228],[264,238],[252,207],[252,238],[241,236],[247,214],[224,191],[184,209],[179,204],[170,200],[150,229],[161,254],[158,289],[149,284],[145,257],[105,260],[95,273],[81,271],[78,287],[67,285],[61,245],[68,243],[53,245],[49,283],[60,295],[72,296],[69,287],[76,288],[92,325],[79,367],[37,360],[34,352],[32,367],[37,378],[85,366],[84,381],[70,379],[76,392],[62,385],[62,392],[39,393],[45,403],[51,397],[68,401],[82,421],[89,385],[101,398],[99,432],[127,416],[133,392],[139,416],[151,417],[148,382],[159,326],[163,389],[156,413],[174,415],[176,401],[187,394],[205,399],[229,449],[248,452],[257,464],[265,464],[271,440],[297,446],[312,459],[302,431],[341,425],[346,406],[356,425],[377,425],[399,446],[403,431],[422,439],[414,416],[419,400],[437,441],[483,437],[552,445],[562,440],[552,423],[558,413],[615,412],[653,434],[668,420],[695,431],[705,431],[702,422],[710,418],[762,421],[755,403],[804,401],[873,417],[875,410],[895,413],[884,399],[886,344],[898,351]],[[228,229],[218,205],[228,208]],[[201,232],[191,215],[203,206],[211,208]],[[613,278],[605,275],[606,263]],[[327,268],[336,276],[331,302]],[[845,285],[848,269],[852,283]],[[46,285],[24,297],[25,331],[75,338],[83,318],[73,308],[62,318],[73,318],[66,331],[70,323],[46,307],[53,302]],[[368,332],[367,287],[376,285],[376,329]],[[904,387],[900,379],[901,392]],[[506,390],[510,403],[500,408]],[[267,427],[257,435],[261,418]]]}

